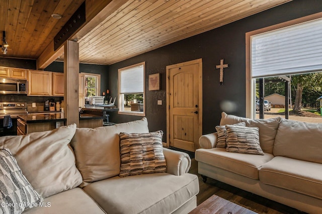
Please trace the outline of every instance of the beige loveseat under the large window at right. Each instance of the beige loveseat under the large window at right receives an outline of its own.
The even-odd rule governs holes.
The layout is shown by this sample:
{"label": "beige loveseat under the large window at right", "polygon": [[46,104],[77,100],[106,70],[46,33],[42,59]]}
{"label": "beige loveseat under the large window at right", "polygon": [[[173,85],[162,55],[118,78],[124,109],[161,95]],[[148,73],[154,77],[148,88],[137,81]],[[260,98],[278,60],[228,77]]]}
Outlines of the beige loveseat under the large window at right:
{"label": "beige loveseat under the large window at right", "polygon": [[[200,137],[201,149],[195,153],[204,182],[210,177],[305,212],[322,213],[322,124],[280,117],[259,120],[225,113],[221,116],[220,126],[226,128],[226,148],[216,147],[218,134],[212,133]],[[263,154],[243,153],[254,147],[247,137],[249,130],[253,132],[256,127],[258,149]],[[228,152],[229,149],[234,152]]]}

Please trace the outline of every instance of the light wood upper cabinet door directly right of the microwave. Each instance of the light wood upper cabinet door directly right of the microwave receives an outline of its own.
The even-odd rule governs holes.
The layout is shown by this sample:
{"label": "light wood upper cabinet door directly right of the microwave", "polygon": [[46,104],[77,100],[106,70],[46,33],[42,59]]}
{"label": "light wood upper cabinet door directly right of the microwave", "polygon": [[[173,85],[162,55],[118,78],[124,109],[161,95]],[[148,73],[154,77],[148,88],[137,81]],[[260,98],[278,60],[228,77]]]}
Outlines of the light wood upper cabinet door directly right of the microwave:
{"label": "light wood upper cabinet door directly right of the microwave", "polygon": [[52,72],[28,71],[28,95],[51,95]]}

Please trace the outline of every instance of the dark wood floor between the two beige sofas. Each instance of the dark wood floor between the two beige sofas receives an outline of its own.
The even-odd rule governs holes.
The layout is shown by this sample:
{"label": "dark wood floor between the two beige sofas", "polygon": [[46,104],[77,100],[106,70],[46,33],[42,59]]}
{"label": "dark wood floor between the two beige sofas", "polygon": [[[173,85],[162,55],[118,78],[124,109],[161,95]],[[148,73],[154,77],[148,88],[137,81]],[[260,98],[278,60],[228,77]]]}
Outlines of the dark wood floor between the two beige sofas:
{"label": "dark wood floor between the two beige sofas", "polygon": [[198,162],[195,159],[192,159],[189,172],[196,174],[199,177],[200,191],[197,195],[197,205],[205,201],[211,195],[215,194],[258,213],[304,213],[297,209],[285,206],[211,178],[208,178],[207,182],[204,183],[200,174],[198,174]]}

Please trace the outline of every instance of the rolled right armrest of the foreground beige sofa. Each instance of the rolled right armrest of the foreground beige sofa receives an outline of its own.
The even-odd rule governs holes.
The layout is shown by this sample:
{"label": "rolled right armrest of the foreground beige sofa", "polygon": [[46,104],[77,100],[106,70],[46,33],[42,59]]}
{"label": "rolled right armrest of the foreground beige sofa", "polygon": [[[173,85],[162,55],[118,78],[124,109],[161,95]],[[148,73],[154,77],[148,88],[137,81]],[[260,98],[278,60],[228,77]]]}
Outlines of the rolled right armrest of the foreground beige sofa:
{"label": "rolled right armrest of the foreground beige sofa", "polygon": [[189,171],[191,159],[187,153],[167,148],[163,148],[163,153],[167,162],[167,173],[183,175]]}

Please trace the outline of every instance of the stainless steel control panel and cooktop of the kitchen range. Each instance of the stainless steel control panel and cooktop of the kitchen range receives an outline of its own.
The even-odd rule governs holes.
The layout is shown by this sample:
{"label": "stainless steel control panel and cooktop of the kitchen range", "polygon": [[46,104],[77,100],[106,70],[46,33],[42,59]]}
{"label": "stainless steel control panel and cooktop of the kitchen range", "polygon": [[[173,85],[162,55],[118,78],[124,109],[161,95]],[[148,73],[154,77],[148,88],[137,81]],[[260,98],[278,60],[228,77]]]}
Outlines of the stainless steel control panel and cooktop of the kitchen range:
{"label": "stainless steel control panel and cooktop of the kitchen range", "polygon": [[26,102],[0,102],[0,119],[3,119],[5,115],[17,118],[17,115],[27,114]]}

